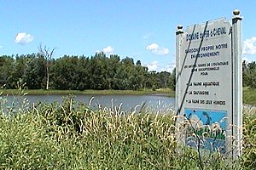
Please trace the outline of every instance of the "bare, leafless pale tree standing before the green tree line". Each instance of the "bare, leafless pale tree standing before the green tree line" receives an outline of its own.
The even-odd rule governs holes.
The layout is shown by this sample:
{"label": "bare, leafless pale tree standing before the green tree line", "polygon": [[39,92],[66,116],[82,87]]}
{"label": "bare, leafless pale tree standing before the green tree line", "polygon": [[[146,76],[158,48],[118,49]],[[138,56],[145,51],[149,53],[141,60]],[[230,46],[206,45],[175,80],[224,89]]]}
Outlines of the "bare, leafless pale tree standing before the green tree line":
{"label": "bare, leafless pale tree standing before the green tree line", "polygon": [[49,89],[49,60],[52,58],[54,54],[55,48],[44,48],[42,47],[42,43],[39,46],[39,54],[41,54],[44,59],[46,59],[46,90]]}

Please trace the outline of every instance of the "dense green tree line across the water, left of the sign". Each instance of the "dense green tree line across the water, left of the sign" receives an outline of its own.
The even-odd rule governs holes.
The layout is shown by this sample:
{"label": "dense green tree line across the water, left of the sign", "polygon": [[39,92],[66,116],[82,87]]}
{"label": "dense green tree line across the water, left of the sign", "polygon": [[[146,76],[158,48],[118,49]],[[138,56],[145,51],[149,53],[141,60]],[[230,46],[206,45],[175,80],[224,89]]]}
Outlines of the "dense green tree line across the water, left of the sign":
{"label": "dense green tree line across the water, left of the sign", "polygon": [[86,57],[64,55],[51,59],[47,50],[42,53],[0,56],[0,85],[17,88],[20,80],[28,89],[114,89],[139,90],[143,88],[175,88],[175,71],[148,71],[140,60],[130,57],[109,57],[96,53]]}

